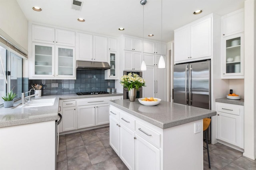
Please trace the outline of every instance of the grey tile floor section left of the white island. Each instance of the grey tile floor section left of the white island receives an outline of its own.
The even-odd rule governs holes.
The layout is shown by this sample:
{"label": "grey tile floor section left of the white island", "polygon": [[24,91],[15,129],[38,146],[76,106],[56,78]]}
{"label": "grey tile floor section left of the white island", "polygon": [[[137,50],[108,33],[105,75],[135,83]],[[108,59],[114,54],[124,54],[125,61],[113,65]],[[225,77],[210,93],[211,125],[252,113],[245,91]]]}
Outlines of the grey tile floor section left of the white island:
{"label": "grey tile floor section left of the white island", "polygon": [[109,145],[109,127],[60,136],[57,170],[128,170]]}

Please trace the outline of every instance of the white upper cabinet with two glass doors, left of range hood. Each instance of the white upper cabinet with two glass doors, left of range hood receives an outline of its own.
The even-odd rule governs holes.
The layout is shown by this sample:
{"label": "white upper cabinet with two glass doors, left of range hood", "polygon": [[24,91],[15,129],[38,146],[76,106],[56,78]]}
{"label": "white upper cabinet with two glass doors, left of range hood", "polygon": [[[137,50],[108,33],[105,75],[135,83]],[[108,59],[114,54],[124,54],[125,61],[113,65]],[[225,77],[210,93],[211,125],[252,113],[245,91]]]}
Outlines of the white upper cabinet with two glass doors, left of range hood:
{"label": "white upper cabinet with two glass doors, left of range hood", "polygon": [[75,79],[75,32],[33,25],[30,79]]}

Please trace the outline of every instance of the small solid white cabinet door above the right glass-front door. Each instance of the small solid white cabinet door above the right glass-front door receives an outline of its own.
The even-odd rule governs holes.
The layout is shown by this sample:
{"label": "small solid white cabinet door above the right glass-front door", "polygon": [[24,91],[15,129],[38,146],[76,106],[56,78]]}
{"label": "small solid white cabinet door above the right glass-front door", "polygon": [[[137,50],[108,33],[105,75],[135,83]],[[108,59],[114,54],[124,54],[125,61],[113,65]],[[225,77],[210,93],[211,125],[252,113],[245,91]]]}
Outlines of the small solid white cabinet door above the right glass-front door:
{"label": "small solid white cabinet door above the right glass-front door", "polygon": [[74,31],[55,29],[55,41],[58,45],[74,47],[76,45],[76,33]]}

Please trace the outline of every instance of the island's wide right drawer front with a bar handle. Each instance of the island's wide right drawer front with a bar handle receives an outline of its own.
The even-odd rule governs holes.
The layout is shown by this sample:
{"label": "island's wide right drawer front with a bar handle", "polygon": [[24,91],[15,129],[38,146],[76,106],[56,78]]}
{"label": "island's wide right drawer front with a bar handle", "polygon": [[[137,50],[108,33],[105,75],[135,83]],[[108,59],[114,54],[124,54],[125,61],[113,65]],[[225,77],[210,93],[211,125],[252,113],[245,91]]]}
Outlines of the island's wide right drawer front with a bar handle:
{"label": "island's wide right drawer front with a bar handle", "polygon": [[136,133],[139,134],[141,137],[155,145],[156,147],[160,147],[160,139],[161,136],[159,133],[155,132],[154,130],[142,125],[138,121],[136,121]]}

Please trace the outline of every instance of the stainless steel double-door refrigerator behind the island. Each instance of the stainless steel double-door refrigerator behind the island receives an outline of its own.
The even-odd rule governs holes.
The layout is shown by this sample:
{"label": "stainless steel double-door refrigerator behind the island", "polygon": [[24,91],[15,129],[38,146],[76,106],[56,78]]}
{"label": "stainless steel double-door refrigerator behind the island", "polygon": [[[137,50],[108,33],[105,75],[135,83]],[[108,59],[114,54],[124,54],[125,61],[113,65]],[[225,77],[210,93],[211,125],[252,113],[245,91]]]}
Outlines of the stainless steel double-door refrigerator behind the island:
{"label": "stainless steel double-door refrigerator behind the island", "polygon": [[[211,109],[210,61],[174,65],[173,102]],[[211,142],[211,128],[208,141]]]}

